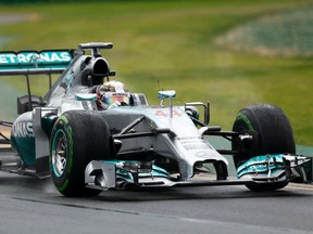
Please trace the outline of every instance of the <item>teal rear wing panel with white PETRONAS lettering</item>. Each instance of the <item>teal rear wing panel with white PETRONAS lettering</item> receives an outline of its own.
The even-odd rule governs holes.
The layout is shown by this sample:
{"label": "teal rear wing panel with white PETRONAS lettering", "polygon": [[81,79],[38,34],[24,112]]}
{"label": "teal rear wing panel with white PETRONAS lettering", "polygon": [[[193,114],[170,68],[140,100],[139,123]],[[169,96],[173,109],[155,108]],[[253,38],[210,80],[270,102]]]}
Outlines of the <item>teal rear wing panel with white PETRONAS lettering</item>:
{"label": "teal rear wing panel with white PETRONAS lettering", "polygon": [[74,50],[0,52],[0,76],[61,74],[73,54]]}

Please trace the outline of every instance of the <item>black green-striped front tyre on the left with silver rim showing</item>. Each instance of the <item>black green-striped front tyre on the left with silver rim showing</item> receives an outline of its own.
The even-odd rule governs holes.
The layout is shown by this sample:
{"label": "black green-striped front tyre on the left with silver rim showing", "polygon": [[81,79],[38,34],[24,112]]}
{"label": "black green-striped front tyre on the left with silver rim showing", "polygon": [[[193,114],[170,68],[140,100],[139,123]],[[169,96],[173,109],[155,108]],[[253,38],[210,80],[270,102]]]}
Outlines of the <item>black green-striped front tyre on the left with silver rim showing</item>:
{"label": "black green-striped front tyre on the left with silver rim showing", "polygon": [[64,196],[96,196],[85,186],[85,169],[91,160],[112,159],[113,139],[98,112],[70,110],[55,121],[50,138],[50,172]]}

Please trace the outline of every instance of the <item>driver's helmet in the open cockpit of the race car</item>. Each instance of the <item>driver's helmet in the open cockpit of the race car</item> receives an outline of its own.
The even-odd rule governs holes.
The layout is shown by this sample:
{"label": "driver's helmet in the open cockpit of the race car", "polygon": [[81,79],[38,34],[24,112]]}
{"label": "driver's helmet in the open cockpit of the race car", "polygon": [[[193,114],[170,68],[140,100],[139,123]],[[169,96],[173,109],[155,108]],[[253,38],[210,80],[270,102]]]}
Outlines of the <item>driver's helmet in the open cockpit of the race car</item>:
{"label": "driver's helmet in the open cockpit of the race car", "polygon": [[129,105],[129,91],[124,83],[112,80],[104,82],[97,90],[97,95],[103,104]]}

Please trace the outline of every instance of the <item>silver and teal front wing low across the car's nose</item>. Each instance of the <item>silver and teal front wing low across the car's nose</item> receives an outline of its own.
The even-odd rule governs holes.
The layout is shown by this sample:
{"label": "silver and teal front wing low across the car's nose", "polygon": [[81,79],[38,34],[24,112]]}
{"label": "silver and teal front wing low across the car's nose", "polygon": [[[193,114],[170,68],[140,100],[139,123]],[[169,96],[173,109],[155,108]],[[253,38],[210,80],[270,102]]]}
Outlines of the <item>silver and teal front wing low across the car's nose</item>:
{"label": "silver and teal front wing low across the car's nose", "polygon": [[86,186],[97,190],[155,188],[173,186],[245,185],[249,183],[309,183],[311,158],[285,154],[253,157],[237,170],[238,179],[216,180],[201,173],[186,181],[151,161],[92,160],[85,170]]}

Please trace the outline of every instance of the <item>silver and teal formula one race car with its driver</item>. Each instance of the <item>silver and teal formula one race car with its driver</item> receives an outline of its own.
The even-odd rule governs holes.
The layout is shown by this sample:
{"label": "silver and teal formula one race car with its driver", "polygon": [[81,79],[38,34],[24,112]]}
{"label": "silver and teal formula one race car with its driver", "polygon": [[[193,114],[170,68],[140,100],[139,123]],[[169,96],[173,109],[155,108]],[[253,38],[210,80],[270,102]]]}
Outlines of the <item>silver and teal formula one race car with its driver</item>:
{"label": "silver and teal formula one race car with its driver", "polygon": [[[312,181],[312,160],[296,156],[291,127],[279,107],[246,107],[233,131],[222,131],[209,125],[209,103],[174,106],[174,90],[159,91],[160,105],[150,106],[145,94],[110,81],[115,73],[100,50],[112,47],[0,53],[0,75],[26,76],[28,90],[17,98],[16,120],[1,121],[2,129],[11,128],[11,138],[1,133],[2,170],[51,176],[65,196],[227,184],[265,191]],[[52,86],[51,75],[61,73]],[[29,75],[38,74],[50,78],[43,99],[30,93]],[[230,141],[231,148],[213,147],[211,135]],[[223,155],[234,156],[237,179],[229,179]]]}

